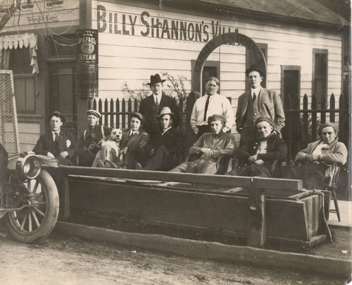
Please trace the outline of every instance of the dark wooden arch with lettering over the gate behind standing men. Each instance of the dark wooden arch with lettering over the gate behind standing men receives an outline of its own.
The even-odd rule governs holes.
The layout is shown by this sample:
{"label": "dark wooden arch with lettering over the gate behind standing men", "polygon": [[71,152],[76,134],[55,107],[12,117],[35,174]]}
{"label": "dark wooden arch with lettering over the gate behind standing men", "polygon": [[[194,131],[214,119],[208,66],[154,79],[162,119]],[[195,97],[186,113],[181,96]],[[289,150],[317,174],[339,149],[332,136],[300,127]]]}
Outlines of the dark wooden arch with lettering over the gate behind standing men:
{"label": "dark wooden arch with lettering over the gate behind standing men", "polygon": [[214,49],[222,44],[240,44],[241,46],[249,49],[253,55],[256,64],[262,68],[266,74],[266,61],[263,51],[250,37],[240,34],[239,32],[226,32],[225,34],[218,35],[210,40],[199,53],[194,65],[194,72],[192,76],[192,90],[201,92],[201,73],[203,72],[203,66],[208,59],[208,56],[213,52]]}

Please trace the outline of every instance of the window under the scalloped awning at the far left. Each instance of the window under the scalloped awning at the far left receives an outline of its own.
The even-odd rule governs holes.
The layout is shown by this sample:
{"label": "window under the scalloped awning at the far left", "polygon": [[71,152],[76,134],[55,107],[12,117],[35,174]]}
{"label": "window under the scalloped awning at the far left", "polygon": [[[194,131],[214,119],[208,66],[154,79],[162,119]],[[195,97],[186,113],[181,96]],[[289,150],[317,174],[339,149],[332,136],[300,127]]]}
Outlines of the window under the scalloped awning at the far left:
{"label": "window under the scalloped awning at the far left", "polygon": [[1,68],[13,71],[17,111],[35,111],[35,84],[29,47],[1,50]]}

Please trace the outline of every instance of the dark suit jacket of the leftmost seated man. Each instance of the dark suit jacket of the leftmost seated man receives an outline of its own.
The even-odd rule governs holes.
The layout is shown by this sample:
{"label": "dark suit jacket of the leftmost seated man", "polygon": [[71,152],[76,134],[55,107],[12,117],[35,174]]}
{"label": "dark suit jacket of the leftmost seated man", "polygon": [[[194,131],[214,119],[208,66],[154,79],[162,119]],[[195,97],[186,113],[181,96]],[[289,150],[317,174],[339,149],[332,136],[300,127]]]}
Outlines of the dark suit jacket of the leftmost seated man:
{"label": "dark suit jacket of the leftmost seated man", "polygon": [[[60,134],[58,135],[58,150],[58,154],[67,151],[69,158],[74,156],[75,152],[78,150],[78,147],[72,133],[60,131]],[[53,133],[51,133],[51,131],[47,131],[44,135],[40,135],[33,152],[35,152],[35,154],[42,155],[46,155],[48,152],[51,152],[55,157],[58,156],[58,154],[55,153]]]}

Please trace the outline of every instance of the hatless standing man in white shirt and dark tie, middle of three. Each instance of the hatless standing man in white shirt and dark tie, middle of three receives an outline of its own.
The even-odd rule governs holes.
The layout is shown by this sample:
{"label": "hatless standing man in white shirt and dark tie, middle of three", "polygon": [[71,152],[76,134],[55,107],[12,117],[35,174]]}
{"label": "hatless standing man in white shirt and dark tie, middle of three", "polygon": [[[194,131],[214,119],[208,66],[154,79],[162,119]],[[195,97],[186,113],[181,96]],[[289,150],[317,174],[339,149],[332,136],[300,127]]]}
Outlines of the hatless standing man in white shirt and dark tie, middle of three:
{"label": "hatless standing man in white shirt and dark tie, middle of three", "polygon": [[191,114],[191,128],[197,137],[203,133],[210,133],[208,118],[215,114],[225,116],[226,123],[223,131],[231,131],[234,123],[234,113],[229,99],[218,94],[220,81],[218,78],[210,77],[206,80],[206,95],[196,100]]}

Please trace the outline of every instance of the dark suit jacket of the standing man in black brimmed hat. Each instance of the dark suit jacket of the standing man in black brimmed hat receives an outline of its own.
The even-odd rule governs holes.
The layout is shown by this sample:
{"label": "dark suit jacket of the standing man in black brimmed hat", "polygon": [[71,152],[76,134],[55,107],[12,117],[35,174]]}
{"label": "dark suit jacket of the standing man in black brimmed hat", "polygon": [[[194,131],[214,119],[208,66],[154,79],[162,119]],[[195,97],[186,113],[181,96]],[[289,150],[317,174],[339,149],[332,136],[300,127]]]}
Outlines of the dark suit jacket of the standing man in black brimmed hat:
{"label": "dark suit jacket of the standing man in black brimmed hat", "polygon": [[[144,131],[149,133],[149,135],[153,135],[153,134],[151,134],[153,119],[155,119],[156,116],[159,115],[159,113],[160,113],[161,109],[163,109],[163,107],[169,107],[171,109],[172,113],[175,114],[172,119],[172,127],[177,128],[177,126],[180,125],[180,109],[177,106],[177,102],[174,98],[163,94],[161,96],[161,100],[159,102],[158,114],[154,114],[153,107],[154,107],[153,95],[150,95],[150,96],[142,99],[142,101],[139,104],[139,113],[141,113],[145,119],[144,124],[143,124],[143,129],[144,129]],[[161,127],[160,127],[159,131],[160,130],[161,130]]]}

